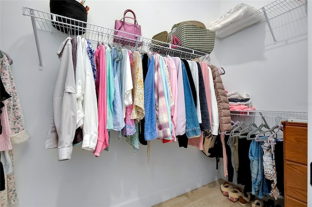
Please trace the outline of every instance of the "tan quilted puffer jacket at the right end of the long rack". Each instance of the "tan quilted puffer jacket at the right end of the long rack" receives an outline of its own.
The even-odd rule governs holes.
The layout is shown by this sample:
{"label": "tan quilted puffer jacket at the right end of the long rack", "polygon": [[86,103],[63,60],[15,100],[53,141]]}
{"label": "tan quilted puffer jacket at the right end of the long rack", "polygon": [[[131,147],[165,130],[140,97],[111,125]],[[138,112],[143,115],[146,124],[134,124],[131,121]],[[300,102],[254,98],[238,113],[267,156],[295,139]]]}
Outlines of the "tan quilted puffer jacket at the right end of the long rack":
{"label": "tan quilted puffer jacket at the right end of the long rack", "polygon": [[213,65],[208,65],[213,73],[214,85],[215,85],[215,96],[218,103],[219,112],[219,124],[220,131],[230,131],[231,130],[231,113],[230,105],[227,94],[224,90],[222,79],[218,69]]}

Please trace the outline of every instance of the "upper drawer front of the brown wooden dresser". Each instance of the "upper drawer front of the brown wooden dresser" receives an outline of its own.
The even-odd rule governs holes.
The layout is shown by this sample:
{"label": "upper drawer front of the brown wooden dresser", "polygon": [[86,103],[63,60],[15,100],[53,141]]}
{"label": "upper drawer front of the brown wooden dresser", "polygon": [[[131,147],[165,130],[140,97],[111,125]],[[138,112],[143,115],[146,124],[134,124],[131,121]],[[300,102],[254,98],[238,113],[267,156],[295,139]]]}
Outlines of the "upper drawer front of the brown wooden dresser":
{"label": "upper drawer front of the brown wooden dresser", "polygon": [[284,126],[285,160],[307,165],[308,163],[308,132],[306,123]]}

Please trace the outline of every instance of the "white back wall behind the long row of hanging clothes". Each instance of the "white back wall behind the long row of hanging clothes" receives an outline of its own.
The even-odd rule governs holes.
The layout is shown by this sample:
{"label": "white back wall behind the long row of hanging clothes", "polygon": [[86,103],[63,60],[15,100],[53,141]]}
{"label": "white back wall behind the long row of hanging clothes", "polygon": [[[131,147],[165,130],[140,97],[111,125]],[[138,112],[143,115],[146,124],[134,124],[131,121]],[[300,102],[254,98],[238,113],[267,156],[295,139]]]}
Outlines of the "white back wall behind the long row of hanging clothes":
{"label": "white back wall behind the long row of hanging clothes", "polygon": [[[183,20],[207,24],[219,16],[217,1],[113,1],[86,0],[88,21],[114,27],[125,9],[137,14],[146,37],[171,29]],[[195,5],[200,5],[195,6]],[[66,36],[39,31],[43,71],[30,17],[22,5],[49,11],[49,0],[0,0],[0,48],[14,61],[12,73],[20,95],[31,140],[15,145],[15,175],[20,201],[17,207],[150,206],[195,189],[220,177],[215,159],[196,148],[177,143],[152,142],[147,164],[146,146],[137,155],[124,138],[113,133],[111,151],[96,158],[74,147],[72,159],[58,162],[57,150],[44,143],[52,114],[51,97],[58,72],[56,52]]]}

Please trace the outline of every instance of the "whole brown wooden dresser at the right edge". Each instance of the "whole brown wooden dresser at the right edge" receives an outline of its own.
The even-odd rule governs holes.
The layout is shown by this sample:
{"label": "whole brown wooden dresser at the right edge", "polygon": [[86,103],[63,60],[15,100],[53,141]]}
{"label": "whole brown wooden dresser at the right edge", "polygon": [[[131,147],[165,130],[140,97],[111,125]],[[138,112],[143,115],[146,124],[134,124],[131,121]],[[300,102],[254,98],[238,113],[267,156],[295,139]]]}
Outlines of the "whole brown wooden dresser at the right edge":
{"label": "whole brown wooden dresser at the right edge", "polygon": [[307,206],[308,124],[283,121],[285,207]]}

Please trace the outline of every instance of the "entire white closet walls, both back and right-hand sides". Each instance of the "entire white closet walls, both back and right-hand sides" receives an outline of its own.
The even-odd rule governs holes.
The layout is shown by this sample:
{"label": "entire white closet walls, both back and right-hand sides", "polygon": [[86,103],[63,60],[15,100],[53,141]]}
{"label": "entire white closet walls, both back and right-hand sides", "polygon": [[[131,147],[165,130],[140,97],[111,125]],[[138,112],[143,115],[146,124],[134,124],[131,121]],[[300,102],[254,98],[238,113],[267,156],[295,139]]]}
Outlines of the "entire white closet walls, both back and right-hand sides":
{"label": "entire white closet walls, both back and right-hand sides", "polygon": [[[207,25],[241,1],[87,2],[89,22],[113,28],[115,19],[130,8],[137,14],[142,35],[152,37],[183,20]],[[267,4],[243,2],[256,8]],[[133,155],[132,147],[124,139],[118,142],[116,133],[111,151],[98,158],[75,147],[71,160],[58,162],[57,150],[44,150],[59,64],[56,51],[65,36],[39,32],[44,64],[39,71],[31,20],[22,16],[22,5],[49,11],[49,1],[0,0],[0,48],[14,60],[12,72],[32,136],[14,146],[17,207],[150,206],[221,176],[221,169],[215,171],[215,159],[176,143],[153,141],[148,165],[146,147],[140,146]],[[212,63],[226,69],[222,79],[227,90],[248,92],[257,109],[307,111],[307,18],[292,22],[298,17],[288,13],[273,20],[276,45],[265,23],[216,40]]]}

